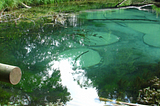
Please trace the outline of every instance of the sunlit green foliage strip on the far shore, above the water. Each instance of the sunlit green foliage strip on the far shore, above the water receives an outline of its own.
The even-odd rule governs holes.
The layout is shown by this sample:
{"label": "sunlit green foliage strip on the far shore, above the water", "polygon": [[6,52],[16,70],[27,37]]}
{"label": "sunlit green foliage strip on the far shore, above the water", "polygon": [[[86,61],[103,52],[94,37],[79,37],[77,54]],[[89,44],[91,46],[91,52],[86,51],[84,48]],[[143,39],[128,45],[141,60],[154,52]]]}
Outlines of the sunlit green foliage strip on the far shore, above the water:
{"label": "sunlit green foliage strip on the far shore, above the water", "polygon": [[[82,6],[83,3],[88,5],[92,5],[92,8],[95,8],[96,5],[99,6],[101,4],[102,8],[105,7],[115,7],[122,0],[0,0],[0,10],[5,8],[15,8],[18,6],[22,6],[21,3],[24,3],[29,6],[37,6],[37,5],[46,5],[46,4],[59,4],[59,3],[71,3],[71,4],[80,4]],[[135,0],[134,2],[142,2],[139,0]],[[122,3],[122,6],[130,5],[134,3],[133,0],[127,0]],[[94,4],[94,5],[93,5]],[[74,6],[77,6],[74,5]],[[97,8],[97,6],[96,6]]]}

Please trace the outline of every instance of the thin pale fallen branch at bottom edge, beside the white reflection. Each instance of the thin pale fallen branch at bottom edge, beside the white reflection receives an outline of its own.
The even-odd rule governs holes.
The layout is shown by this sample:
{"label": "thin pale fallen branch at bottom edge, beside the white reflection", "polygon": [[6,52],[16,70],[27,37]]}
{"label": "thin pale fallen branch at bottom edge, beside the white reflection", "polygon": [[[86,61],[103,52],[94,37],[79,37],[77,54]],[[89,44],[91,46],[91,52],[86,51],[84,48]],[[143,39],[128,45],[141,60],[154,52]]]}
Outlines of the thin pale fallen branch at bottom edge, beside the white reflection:
{"label": "thin pale fallen branch at bottom edge, beside the white reflection", "polygon": [[121,101],[115,101],[115,100],[111,100],[111,99],[107,99],[107,98],[101,98],[99,97],[99,100],[101,101],[109,101],[109,102],[115,102],[116,104],[120,104],[120,105],[129,105],[129,106],[149,106],[149,105],[141,105],[141,104],[134,104],[134,103],[127,103],[127,102],[121,102]]}

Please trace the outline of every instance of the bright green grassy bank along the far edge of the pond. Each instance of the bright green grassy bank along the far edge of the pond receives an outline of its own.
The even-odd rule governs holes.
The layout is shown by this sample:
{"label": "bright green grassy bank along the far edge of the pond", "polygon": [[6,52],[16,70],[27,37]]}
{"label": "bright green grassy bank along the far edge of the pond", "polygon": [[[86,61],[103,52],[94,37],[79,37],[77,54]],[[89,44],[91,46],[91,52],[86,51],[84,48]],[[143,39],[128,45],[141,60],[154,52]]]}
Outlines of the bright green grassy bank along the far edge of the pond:
{"label": "bright green grassy bank along the far edge of the pond", "polygon": [[[15,9],[26,6],[39,6],[46,4],[59,4],[59,3],[103,3],[109,7],[114,7],[124,0],[0,0],[0,10]],[[145,3],[150,3],[152,0],[145,0]],[[144,0],[126,0],[122,6],[131,5],[135,3],[144,3]]]}

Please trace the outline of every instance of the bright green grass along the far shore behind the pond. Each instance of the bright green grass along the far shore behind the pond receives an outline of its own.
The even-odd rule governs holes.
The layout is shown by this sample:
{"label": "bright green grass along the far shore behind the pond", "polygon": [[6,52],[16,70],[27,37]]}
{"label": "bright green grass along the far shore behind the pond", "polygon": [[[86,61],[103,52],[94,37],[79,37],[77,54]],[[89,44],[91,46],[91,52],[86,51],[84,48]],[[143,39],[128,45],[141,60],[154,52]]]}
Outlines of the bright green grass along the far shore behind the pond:
{"label": "bright green grass along the far shore behind the pond", "polygon": [[[123,0],[0,0],[0,10],[2,9],[13,9],[22,7],[22,3],[28,6],[38,6],[46,4],[58,4],[58,3],[107,3],[117,4]],[[130,0],[131,1],[131,0]]]}

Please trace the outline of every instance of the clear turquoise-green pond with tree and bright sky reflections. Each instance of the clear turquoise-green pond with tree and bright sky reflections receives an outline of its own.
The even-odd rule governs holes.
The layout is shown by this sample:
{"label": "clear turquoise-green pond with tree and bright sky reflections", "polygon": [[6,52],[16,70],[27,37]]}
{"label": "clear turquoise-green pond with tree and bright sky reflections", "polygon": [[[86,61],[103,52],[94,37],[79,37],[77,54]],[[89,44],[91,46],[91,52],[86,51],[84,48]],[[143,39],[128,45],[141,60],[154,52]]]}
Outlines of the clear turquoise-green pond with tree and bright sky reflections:
{"label": "clear turquoise-green pond with tree and bright sky reflections", "polygon": [[18,85],[1,84],[11,104],[105,105],[99,97],[136,103],[145,82],[160,77],[160,18],[152,10],[84,11],[57,26],[44,20],[38,28],[32,21],[15,26],[18,38],[0,38],[0,62],[22,70]]}

